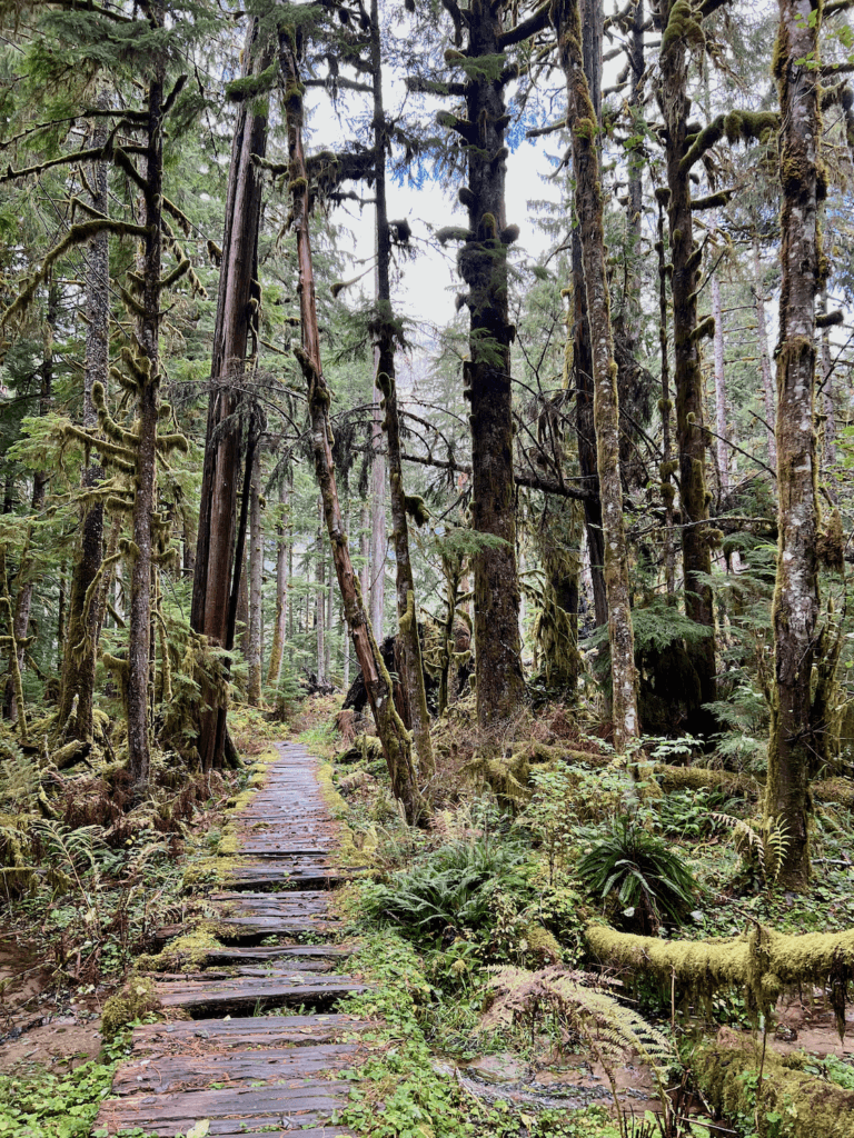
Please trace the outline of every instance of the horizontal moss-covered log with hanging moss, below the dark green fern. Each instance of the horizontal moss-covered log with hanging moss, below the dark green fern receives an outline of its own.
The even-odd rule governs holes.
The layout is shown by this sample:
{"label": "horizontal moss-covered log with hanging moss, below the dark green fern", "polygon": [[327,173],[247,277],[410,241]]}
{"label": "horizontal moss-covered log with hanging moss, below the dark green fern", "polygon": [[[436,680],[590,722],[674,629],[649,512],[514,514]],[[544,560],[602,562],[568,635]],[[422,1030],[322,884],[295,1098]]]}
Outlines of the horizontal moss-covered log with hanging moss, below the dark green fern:
{"label": "horizontal moss-covered log with hanging moss, below the dark green fern", "polygon": [[854,979],[854,931],[787,937],[757,925],[733,939],[689,941],[635,937],[590,924],[586,939],[603,964],[673,983],[685,1000],[706,1011],[715,992],[744,991],[754,1022],[761,1014],[770,1015],[787,988],[829,986],[837,1030],[840,1038],[845,1034],[846,991]]}

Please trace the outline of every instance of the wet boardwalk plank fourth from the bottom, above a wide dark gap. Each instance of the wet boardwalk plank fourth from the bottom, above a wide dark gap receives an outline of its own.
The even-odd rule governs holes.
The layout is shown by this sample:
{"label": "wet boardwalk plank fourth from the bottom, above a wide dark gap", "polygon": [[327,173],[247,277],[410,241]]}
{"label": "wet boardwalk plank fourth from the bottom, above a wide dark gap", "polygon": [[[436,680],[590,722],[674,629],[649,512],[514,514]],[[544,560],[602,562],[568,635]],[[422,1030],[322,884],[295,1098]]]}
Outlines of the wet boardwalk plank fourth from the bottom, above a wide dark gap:
{"label": "wet boardwalk plank fourth from the bottom, above a wide dark gap", "polygon": [[166,981],[154,984],[154,993],[164,1008],[182,1008],[191,1014],[255,1008],[271,1004],[325,1005],[351,992],[367,991],[367,986],[350,976],[322,973],[279,972],[266,976],[233,976],[206,982]]}

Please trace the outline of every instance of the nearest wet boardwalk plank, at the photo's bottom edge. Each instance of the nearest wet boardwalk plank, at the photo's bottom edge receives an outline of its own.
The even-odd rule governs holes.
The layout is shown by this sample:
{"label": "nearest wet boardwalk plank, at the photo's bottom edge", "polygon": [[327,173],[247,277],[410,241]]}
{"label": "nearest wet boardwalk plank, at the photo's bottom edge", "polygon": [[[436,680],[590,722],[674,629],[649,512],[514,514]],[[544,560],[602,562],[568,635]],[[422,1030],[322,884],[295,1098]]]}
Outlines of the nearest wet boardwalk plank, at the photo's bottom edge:
{"label": "nearest wet boardwalk plank, at the photo's bottom edge", "polygon": [[287,1133],[328,1123],[345,1105],[347,1091],[346,1083],[293,1079],[274,1087],[129,1095],[105,1102],[92,1129],[115,1135],[138,1127],[159,1138],[173,1138],[207,1119],[210,1135]]}

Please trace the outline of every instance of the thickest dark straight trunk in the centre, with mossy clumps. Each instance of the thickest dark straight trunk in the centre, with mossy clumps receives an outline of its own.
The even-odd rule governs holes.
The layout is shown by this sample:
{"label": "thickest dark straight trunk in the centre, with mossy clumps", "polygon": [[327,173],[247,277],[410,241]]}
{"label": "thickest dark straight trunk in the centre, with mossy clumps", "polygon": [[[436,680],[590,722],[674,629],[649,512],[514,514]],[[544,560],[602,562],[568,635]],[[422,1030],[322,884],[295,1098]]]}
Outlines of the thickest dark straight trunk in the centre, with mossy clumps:
{"label": "thickest dark straight trunk in the centre, with mossy clumps", "polygon": [[477,531],[501,538],[500,545],[483,549],[474,559],[477,715],[481,725],[491,728],[516,710],[524,693],[507,269],[508,246],[518,229],[507,225],[504,209],[504,92],[517,68],[504,61],[504,51],[544,26],[548,9],[543,6],[529,20],[506,28],[509,6],[503,2],[473,0],[465,18],[454,0],[445,0],[444,7],[454,22],[457,47],[466,41],[465,50],[445,55],[462,73],[463,81],[450,83],[447,90],[465,98],[466,114],[442,113],[440,121],[460,135],[468,170],[468,184],[460,190],[468,230],[458,266],[468,286],[465,394],[471,402],[471,518]]}

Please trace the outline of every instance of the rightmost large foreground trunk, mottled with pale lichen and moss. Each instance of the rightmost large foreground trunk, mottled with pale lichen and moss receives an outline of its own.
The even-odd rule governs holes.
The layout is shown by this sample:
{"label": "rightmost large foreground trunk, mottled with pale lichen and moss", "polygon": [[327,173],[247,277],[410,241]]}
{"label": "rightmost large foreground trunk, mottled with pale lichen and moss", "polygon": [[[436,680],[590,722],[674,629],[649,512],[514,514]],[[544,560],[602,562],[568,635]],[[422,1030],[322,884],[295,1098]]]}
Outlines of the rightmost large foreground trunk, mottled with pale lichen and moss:
{"label": "rightmost large foreground trunk, mottled with pale lichen and moss", "polygon": [[[774,684],[765,824],[785,828],[779,877],[802,889],[810,876],[810,776],[820,753],[811,707],[819,618],[819,503],[815,428],[815,302],[821,289],[815,72],[821,9],[779,0],[774,51],[780,94],[780,338],[777,346],[779,534],[772,605]],[[798,60],[802,60],[798,63]]]}

